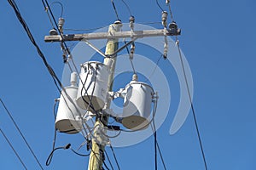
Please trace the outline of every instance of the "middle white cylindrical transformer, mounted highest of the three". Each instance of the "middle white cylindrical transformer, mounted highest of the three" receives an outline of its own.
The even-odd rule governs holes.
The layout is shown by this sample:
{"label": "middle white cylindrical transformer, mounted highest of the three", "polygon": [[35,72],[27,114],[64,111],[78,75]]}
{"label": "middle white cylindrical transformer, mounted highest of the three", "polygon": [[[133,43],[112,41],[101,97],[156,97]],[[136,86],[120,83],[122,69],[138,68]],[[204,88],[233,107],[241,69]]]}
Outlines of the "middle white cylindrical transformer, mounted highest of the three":
{"label": "middle white cylindrical transformer, mounted highest of the three", "polygon": [[97,61],[89,61],[81,65],[77,103],[79,107],[89,111],[99,111],[107,99],[108,77],[110,69]]}

